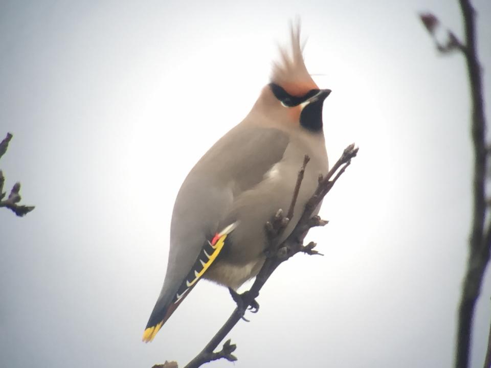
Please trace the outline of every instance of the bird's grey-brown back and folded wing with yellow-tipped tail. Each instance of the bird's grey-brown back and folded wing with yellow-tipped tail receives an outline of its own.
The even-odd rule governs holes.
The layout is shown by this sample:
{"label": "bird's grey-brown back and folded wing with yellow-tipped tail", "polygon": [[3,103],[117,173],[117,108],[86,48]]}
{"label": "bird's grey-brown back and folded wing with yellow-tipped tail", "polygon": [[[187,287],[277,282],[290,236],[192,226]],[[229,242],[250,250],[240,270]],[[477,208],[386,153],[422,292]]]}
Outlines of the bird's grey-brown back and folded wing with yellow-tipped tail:
{"label": "bird's grey-brown back and folded wing with yellow-tipped tail", "polygon": [[280,130],[237,125],[199,160],[179,191],[172,214],[169,262],[143,340],[153,339],[213,263],[235,223],[218,228],[234,198],[263,180],[288,145]]}

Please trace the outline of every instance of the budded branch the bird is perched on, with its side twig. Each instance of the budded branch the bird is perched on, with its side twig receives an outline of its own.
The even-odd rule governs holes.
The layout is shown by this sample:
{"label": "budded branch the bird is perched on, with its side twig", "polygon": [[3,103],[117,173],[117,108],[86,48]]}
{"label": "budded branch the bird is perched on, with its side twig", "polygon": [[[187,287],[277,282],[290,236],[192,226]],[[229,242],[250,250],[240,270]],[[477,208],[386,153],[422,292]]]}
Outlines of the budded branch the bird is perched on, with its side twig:
{"label": "budded branch the bird is perched on, with its side twig", "polygon": [[[225,342],[224,346],[219,352],[215,353],[214,350],[238,323],[238,321],[243,318],[247,309],[250,309],[252,306],[255,306],[256,309],[258,308],[255,298],[259,295],[259,291],[263,287],[264,283],[270,278],[271,274],[281,263],[288,260],[298,252],[304,252],[310,255],[318,254],[318,252],[314,250],[314,247],[316,246],[315,243],[311,242],[307,245],[303,245],[303,240],[311,227],[323,226],[327,223],[327,221],[321,220],[319,216],[313,216],[313,213],[324,196],[331,190],[334,183],[351,164],[351,158],[355,157],[357,153],[358,148],[355,148],[354,144],[348,146],[344,150],[341,158],[336,164],[334,164],[332,169],[329,170],[327,175],[325,177],[322,175],[319,177],[317,190],[305,205],[305,209],[300,217],[300,220],[293,229],[292,233],[279,245],[274,246],[275,240],[277,240],[281,235],[282,231],[288,224],[289,219],[287,217],[283,217],[282,211],[278,211],[273,217],[273,221],[266,223],[266,233],[269,235],[270,246],[267,249],[267,258],[259,271],[254,284],[249,291],[239,295],[241,302],[237,303],[238,305],[230,315],[229,319],[218,330],[215,336],[213,336],[210,342],[208,342],[203,351],[196,355],[196,357],[191,360],[185,366],[185,368],[197,368],[207,362],[220,358],[225,358],[230,361],[237,359],[234,355],[232,355],[232,352],[236,349],[236,346],[235,344],[231,344],[230,340]],[[300,185],[303,180],[303,173],[307,163],[308,156],[305,156],[303,166],[297,177],[292,203],[287,212],[289,217],[293,217],[293,208],[295,206],[296,197],[298,196]]]}

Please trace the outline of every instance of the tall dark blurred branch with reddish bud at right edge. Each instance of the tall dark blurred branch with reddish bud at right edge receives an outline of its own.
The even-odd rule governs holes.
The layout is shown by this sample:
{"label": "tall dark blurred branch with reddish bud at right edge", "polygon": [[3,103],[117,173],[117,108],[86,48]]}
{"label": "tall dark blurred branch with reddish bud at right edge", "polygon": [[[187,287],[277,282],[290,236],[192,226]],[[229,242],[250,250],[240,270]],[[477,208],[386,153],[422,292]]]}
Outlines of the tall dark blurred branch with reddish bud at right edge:
{"label": "tall dark blurred branch with reddish bud at right edge", "polygon": [[[484,101],[482,93],[481,66],[477,56],[475,33],[475,10],[469,0],[459,0],[465,30],[465,44],[457,40],[455,35],[448,31],[447,44],[437,42],[437,49],[441,52],[460,50],[467,64],[467,74],[471,89],[471,131],[474,146],[474,178],[473,178],[473,218],[469,240],[469,256],[460,299],[457,341],[456,341],[456,368],[467,368],[471,346],[472,324],[474,308],[481,292],[482,280],[486,266],[489,262],[491,245],[491,219],[484,231],[486,216],[485,198],[485,171],[487,149],[485,142],[486,121],[484,116]],[[434,30],[439,21],[433,14],[421,14],[421,21],[436,40]],[[489,364],[487,365],[489,366]]]}

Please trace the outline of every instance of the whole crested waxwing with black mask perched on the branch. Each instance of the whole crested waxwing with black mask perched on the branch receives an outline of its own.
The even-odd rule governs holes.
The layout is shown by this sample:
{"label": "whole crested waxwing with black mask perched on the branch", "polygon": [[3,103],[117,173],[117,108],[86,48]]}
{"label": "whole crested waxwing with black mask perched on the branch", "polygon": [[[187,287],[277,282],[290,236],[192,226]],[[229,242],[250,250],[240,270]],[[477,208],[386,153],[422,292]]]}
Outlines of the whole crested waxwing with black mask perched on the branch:
{"label": "whole crested waxwing with black mask perched on the branch", "polygon": [[178,191],[167,271],[144,342],[154,339],[200,279],[235,292],[258,274],[269,245],[264,225],[279,209],[288,210],[305,155],[310,161],[294,216],[278,244],[293,231],[319,175],[327,173],[322,109],[331,90],[320,89],[307,71],[299,22],[290,25],[290,39],[250,112],[198,160]]}

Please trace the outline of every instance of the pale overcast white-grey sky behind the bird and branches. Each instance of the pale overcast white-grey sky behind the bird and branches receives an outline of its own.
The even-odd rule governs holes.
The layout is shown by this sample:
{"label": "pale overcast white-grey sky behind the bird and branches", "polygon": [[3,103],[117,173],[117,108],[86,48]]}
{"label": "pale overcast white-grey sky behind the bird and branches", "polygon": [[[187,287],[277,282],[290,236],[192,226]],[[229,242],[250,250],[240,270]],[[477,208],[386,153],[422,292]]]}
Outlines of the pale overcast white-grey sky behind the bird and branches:
{"label": "pale overcast white-grey sky behind the bird and branches", "polygon": [[[475,2],[491,101],[491,4]],[[359,157],[298,255],[230,337],[237,367],[449,367],[467,255],[472,151],[461,55],[443,57],[417,12],[462,35],[455,1],[0,1],[0,167],[25,218],[0,211],[0,366],[184,366],[227,319],[200,282],[152,343],[177,190],[248,113],[288,20],[321,88],[333,163]],[[487,116],[491,117],[489,103]],[[491,321],[487,272],[472,367]],[[219,361],[214,367],[231,367]]]}

